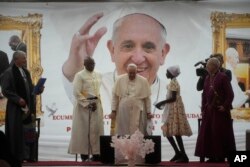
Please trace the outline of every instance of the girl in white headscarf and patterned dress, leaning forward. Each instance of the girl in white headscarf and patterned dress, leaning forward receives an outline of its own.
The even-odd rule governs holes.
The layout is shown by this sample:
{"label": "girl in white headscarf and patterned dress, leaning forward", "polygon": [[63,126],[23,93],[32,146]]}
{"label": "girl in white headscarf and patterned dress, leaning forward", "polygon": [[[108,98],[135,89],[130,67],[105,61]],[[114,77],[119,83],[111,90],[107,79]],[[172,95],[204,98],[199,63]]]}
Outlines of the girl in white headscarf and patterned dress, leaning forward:
{"label": "girl in white headscarf and patterned dress, leaning forward", "polygon": [[[180,85],[176,77],[180,74],[179,66],[171,66],[167,69],[166,76],[171,81],[167,85],[166,100],[156,104],[157,108],[165,106],[162,122],[163,135],[167,137],[171,146],[175,151],[175,156],[170,160],[171,162],[189,162],[186,155],[185,148],[182,141],[182,136],[191,136],[192,130],[188,123],[184,104],[180,96]],[[174,140],[176,138],[177,143]],[[178,146],[177,146],[178,145]]]}

